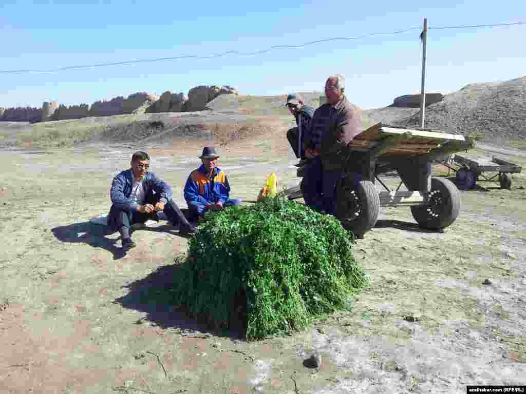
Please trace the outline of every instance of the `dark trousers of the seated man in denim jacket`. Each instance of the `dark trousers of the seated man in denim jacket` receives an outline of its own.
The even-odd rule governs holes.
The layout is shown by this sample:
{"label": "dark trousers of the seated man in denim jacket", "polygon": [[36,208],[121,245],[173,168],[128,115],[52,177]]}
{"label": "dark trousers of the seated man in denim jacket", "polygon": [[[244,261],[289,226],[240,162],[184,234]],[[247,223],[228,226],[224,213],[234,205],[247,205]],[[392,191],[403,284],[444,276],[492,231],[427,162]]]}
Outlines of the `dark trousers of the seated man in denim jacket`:
{"label": "dark trousers of the seated man in denim jacket", "polygon": [[[153,193],[148,193],[146,198],[146,204],[154,205],[159,202],[159,197]],[[188,220],[177,204],[173,200],[168,200],[163,210],[166,217],[172,224],[179,223],[180,225],[189,226]],[[129,227],[135,223],[145,223],[148,219],[158,221],[157,212],[152,213],[140,213],[137,211],[130,212],[125,209],[119,208],[118,206],[112,205],[109,211],[108,225],[114,229],[120,230],[121,227]]]}

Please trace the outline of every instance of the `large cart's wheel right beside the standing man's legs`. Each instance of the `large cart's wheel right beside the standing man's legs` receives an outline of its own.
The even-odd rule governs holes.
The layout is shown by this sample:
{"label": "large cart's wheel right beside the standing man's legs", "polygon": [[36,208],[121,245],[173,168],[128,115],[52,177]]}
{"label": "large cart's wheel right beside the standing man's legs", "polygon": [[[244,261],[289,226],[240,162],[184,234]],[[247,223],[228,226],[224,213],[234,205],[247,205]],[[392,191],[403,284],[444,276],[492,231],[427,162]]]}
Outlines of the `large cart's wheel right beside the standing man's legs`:
{"label": "large cart's wheel right beside the standing man's legs", "polygon": [[356,238],[375,226],[380,210],[380,198],[375,185],[370,181],[361,181],[358,188],[345,181],[337,190],[336,217],[344,229],[352,231]]}

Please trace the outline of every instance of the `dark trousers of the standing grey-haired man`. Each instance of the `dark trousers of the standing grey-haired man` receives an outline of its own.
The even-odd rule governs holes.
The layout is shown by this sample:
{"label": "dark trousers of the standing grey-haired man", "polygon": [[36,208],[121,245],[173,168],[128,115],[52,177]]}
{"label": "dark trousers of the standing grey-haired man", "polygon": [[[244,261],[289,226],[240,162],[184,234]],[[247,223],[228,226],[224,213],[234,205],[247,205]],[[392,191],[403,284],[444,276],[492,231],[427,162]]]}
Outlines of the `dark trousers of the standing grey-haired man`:
{"label": "dark trousers of the standing grey-haired man", "polygon": [[[301,191],[305,203],[313,210],[334,215],[336,213],[336,191],[343,171],[323,171],[319,156],[310,159],[306,164],[305,176],[301,182]],[[356,186],[361,181],[359,173],[349,173]]]}

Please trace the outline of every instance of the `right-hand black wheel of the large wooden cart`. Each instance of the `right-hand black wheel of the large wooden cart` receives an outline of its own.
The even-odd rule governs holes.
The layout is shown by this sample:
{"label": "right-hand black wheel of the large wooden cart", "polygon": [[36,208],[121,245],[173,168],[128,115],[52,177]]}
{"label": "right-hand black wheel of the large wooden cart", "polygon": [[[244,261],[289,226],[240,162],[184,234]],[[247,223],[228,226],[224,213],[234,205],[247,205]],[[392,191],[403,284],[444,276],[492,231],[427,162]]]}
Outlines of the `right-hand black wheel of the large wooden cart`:
{"label": "right-hand black wheel of the large wooden cart", "polygon": [[431,178],[427,205],[411,206],[414,220],[424,229],[439,230],[457,219],[460,211],[460,192],[449,179]]}

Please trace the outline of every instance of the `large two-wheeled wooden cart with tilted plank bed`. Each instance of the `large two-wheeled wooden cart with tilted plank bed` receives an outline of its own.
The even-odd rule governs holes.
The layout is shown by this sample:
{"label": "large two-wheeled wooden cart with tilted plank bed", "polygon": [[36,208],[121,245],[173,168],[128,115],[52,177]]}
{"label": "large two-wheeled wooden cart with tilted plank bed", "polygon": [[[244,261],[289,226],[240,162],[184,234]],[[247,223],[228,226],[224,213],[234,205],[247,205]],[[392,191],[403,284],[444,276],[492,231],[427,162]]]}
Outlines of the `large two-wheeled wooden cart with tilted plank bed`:
{"label": "large two-wheeled wooden cart with tilted plank bed", "polygon": [[[428,229],[449,226],[460,210],[460,192],[448,179],[431,177],[431,163],[473,147],[473,140],[459,134],[381,123],[370,127],[348,146],[349,159],[337,187],[336,217],[358,238],[376,224],[380,206],[410,206],[417,223]],[[303,170],[298,170],[299,177]],[[396,190],[378,178],[391,171],[396,171],[401,179]],[[360,182],[353,181],[355,173],[361,175]],[[378,192],[375,180],[386,191]],[[301,184],[286,191],[290,200],[301,198]],[[407,191],[399,191],[402,184]]]}

